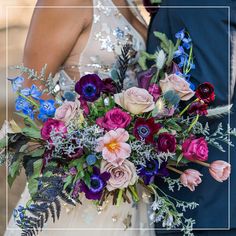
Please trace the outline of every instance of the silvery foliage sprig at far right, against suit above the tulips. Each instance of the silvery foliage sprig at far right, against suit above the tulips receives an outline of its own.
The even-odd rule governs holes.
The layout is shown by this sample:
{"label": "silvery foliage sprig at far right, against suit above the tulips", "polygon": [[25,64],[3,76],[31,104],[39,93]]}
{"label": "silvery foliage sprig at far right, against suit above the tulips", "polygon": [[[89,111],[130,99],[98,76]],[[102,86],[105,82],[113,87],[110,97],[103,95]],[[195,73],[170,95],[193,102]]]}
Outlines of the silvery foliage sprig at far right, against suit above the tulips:
{"label": "silvery foliage sprig at far right, against suit above the tulips", "polygon": [[223,125],[220,123],[217,129],[214,132],[211,132],[208,122],[204,126],[200,122],[197,122],[192,131],[196,135],[204,136],[208,144],[218,148],[221,152],[225,152],[225,150],[220,143],[225,143],[234,147],[234,144],[230,140],[230,136],[236,136],[236,129],[232,129],[229,125],[224,132]]}

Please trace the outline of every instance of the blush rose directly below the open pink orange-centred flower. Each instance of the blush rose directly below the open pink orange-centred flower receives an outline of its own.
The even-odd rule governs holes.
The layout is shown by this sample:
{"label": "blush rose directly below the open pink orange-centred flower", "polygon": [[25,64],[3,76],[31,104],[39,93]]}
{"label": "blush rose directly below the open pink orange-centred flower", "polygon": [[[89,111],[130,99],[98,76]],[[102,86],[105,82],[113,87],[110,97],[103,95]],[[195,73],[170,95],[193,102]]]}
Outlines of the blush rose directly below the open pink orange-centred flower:
{"label": "blush rose directly below the open pink orange-centred flower", "polygon": [[107,190],[127,188],[129,185],[134,185],[138,180],[138,175],[134,164],[125,160],[120,166],[113,166],[107,161],[102,161],[101,172],[110,173],[111,177],[107,182]]}

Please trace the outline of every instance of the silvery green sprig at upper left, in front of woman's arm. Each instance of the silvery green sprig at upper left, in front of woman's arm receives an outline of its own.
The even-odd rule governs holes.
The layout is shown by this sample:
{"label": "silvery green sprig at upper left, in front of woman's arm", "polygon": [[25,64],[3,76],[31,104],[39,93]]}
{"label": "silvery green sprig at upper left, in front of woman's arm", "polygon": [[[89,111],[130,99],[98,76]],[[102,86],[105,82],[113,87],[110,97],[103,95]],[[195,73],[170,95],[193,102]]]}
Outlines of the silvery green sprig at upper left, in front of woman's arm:
{"label": "silvery green sprig at upper left, in front of woman's arm", "polygon": [[[52,74],[49,74],[49,76],[46,77],[47,65],[45,65],[39,73],[34,69],[29,69],[23,65],[15,66],[13,68],[19,70],[21,74],[27,74],[28,79],[31,79],[33,81],[40,81],[41,84],[46,87],[42,90],[43,93],[54,94],[56,84],[53,80]],[[39,88],[42,89],[41,87]]]}

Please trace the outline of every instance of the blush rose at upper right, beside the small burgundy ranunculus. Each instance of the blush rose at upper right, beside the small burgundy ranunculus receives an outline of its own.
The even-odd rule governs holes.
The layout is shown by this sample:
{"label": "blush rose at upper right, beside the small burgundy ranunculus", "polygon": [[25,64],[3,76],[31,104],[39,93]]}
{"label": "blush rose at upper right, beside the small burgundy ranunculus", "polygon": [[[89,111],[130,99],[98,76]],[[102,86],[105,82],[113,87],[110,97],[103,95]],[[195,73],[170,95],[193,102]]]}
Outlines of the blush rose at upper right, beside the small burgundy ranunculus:
{"label": "blush rose at upper right, beside the small burgundy ranunculus", "polygon": [[159,83],[163,93],[170,90],[175,91],[183,101],[188,101],[195,94],[190,88],[190,84],[184,78],[176,74],[166,76],[165,79],[160,80]]}

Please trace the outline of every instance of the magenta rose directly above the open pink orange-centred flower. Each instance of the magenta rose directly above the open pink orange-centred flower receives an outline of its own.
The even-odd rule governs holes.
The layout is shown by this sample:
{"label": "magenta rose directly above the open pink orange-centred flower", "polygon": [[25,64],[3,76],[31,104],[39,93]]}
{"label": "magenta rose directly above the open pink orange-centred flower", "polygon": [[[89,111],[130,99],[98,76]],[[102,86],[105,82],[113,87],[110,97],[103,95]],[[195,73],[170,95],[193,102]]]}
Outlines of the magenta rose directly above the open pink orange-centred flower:
{"label": "magenta rose directly above the open pink orange-centred flower", "polygon": [[127,127],[130,121],[131,116],[127,112],[122,111],[120,108],[113,108],[104,117],[99,117],[96,123],[106,130],[114,130]]}

